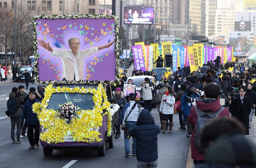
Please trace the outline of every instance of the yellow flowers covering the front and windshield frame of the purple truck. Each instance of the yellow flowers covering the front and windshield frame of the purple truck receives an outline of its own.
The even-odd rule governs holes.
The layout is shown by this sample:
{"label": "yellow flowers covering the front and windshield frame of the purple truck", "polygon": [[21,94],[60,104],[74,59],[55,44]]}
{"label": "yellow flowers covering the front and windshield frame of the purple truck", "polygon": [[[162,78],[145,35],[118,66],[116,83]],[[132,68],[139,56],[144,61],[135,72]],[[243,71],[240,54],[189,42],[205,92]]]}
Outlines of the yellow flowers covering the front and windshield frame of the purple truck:
{"label": "yellow flowers covering the front and windshield frame of the purple truck", "polygon": [[[67,124],[65,120],[60,118],[60,114],[54,109],[46,109],[52,94],[55,93],[91,93],[95,107],[92,110],[77,110],[78,118],[72,119]],[[104,102],[102,103],[102,96]],[[102,104],[102,105],[101,105]],[[103,110],[106,110],[101,115]],[[37,114],[40,125],[44,129],[41,132],[40,139],[47,143],[60,143],[64,142],[64,137],[72,135],[76,142],[94,143],[100,142],[100,132],[96,130],[102,126],[103,116],[108,114],[108,136],[111,135],[111,120],[110,103],[107,101],[106,91],[101,84],[98,89],[95,88],[68,88],[57,87],[53,88],[52,84],[45,88],[44,99],[41,103],[33,104],[33,112]]]}

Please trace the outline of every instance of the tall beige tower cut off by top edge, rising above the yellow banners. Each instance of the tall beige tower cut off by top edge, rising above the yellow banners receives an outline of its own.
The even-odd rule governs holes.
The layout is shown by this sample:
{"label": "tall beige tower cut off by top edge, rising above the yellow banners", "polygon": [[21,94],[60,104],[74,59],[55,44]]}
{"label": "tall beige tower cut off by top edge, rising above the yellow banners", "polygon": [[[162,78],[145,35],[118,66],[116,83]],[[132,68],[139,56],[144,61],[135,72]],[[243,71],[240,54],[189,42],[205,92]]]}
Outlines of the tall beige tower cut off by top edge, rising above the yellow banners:
{"label": "tall beige tower cut off by top edge, rising above the yellow banners", "polygon": [[205,0],[186,0],[185,24],[189,25],[190,36],[205,36]]}

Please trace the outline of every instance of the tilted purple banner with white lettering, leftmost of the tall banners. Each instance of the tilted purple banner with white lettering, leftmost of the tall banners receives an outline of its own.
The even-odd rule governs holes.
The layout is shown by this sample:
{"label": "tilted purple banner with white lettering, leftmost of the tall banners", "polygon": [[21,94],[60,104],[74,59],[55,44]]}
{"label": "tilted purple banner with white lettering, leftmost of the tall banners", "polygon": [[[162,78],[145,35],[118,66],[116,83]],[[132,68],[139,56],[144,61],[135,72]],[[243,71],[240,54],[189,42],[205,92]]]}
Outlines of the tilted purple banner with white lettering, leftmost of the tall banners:
{"label": "tilted purple banner with white lettering, leftmost of the tall banners", "polygon": [[141,45],[132,46],[132,53],[134,57],[135,69],[138,71],[140,69],[142,71],[146,71]]}

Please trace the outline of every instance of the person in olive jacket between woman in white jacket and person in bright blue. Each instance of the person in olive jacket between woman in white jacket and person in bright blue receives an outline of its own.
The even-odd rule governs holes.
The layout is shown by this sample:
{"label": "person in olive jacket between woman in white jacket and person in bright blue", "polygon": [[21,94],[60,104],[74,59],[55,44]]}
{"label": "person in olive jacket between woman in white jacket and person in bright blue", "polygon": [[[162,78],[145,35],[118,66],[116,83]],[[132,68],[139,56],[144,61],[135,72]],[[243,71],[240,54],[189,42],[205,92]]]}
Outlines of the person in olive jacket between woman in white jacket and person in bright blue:
{"label": "person in olive jacket between woman in white jacket and person in bright blue", "polygon": [[[175,96],[175,102],[181,102],[181,98],[186,90],[186,84],[185,83],[181,83],[180,88],[181,90],[176,94]],[[179,121],[180,121],[180,127],[179,129],[186,129],[186,117],[183,115],[182,111],[178,111],[179,114]]]}

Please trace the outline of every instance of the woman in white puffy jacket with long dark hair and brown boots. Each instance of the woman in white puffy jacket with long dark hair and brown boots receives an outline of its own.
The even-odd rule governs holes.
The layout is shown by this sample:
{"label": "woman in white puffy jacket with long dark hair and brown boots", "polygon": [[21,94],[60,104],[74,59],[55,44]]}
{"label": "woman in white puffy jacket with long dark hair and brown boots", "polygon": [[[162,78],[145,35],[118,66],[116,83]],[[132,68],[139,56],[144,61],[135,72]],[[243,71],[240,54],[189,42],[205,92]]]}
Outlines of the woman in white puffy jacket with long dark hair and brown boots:
{"label": "woman in white puffy jacket with long dark hair and brown boots", "polygon": [[165,93],[161,100],[160,109],[159,109],[159,112],[163,114],[162,115],[163,130],[161,130],[161,132],[164,134],[165,134],[165,129],[166,129],[166,124],[168,122],[168,118],[169,118],[169,126],[170,126],[169,133],[172,133],[172,126],[173,126],[172,115],[174,113],[174,111],[173,111],[174,103],[175,103],[175,93],[173,92],[171,87],[166,87]]}

